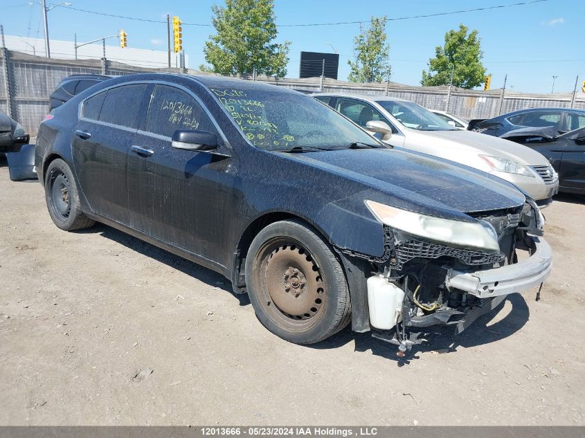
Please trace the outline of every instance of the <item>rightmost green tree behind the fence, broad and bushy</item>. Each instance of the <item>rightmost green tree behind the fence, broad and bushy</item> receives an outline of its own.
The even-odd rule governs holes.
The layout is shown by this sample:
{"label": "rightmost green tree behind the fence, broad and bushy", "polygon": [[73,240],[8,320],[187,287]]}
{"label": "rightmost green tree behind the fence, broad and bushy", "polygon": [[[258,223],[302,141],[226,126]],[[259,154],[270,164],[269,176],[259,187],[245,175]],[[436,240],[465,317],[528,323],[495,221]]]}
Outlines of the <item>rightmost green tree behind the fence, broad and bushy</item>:
{"label": "rightmost green tree behind the fence, broad and bushy", "polygon": [[483,52],[477,30],[459,25],[445,34],[443,47],[435,48],[435,57],[429,60],[429,71],[422,71],[420,83],[425,86],[449,85],[453,70],[453,85],[472,89],[483,83],[485,67],[481,63]]}

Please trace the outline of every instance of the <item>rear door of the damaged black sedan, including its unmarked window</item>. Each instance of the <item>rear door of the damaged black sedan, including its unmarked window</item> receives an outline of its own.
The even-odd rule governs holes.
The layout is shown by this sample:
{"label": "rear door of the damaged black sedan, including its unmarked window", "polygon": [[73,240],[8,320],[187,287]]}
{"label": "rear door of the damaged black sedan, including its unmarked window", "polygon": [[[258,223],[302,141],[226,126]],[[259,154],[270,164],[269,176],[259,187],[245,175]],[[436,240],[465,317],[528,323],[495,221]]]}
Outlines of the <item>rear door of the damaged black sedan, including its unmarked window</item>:
{"label": "rear door of the damaged black sedan, including its unmarked window", "polygon": [[147,84],[122,84],[82,103],[73,140],[80,188],[98,215],[128,224],[127,154]]}

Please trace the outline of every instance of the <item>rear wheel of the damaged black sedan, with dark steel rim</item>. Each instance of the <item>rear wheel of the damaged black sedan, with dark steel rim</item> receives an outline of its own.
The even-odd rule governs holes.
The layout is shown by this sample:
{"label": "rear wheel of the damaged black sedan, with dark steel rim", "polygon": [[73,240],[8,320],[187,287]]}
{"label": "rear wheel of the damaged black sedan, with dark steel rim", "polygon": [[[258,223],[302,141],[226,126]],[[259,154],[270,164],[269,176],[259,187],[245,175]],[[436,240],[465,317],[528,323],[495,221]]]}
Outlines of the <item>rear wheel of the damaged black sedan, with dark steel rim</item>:
{"label": "rear wheel of the damaged black sedan, with dark steel rim", "polygon": [[60,158],[51,161],[46,170],[45,199],[48,214],[62,230],[82,230],[96,223],[81,211],[73,173],[67,163]]}

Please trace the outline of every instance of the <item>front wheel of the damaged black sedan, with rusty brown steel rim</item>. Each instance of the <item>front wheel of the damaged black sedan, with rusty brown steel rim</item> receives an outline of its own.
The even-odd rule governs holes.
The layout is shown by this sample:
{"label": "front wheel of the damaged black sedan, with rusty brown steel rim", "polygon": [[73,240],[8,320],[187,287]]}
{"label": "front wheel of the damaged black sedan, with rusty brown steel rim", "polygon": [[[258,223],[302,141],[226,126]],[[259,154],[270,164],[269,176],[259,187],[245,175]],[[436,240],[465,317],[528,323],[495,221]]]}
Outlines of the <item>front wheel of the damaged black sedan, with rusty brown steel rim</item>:
{"label": "front wheel of the damaged black sedan, with rusty brown steel rim", "polygon": [[350,320],[341,264],[300,221],[271,223],[258,233],[246,257],[246,288],[264,327],[291,343],[318,343]]}

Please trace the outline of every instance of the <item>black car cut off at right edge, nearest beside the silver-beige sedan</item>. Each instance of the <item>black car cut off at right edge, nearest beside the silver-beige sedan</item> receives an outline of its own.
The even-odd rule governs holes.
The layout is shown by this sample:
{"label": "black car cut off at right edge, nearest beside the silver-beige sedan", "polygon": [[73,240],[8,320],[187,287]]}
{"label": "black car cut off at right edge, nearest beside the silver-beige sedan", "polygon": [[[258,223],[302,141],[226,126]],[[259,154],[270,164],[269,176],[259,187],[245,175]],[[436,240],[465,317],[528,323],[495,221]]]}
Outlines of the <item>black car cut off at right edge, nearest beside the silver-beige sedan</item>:
{"label": "black car cut off at right edge, nearest beside the silver-beige sedan", "polygon": [[561,135],[555,129],[542,128],[517,129],[504,135],[548,158],[559,175],[559,191],[585,193],[585,127]]}

